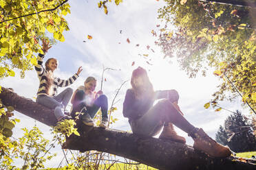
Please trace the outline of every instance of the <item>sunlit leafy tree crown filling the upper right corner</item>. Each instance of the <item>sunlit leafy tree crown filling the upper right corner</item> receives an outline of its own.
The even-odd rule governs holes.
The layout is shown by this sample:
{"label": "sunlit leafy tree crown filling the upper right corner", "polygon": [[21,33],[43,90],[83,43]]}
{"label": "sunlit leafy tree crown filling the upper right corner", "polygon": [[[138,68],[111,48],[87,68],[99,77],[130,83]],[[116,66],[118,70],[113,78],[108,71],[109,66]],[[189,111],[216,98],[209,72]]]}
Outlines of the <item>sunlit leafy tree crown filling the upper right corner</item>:
{"label": "sunlit leafy tree crown filling the upper right corner", "polygon": [[255,109],[256,8],[197,0],[165,2],[158,13],[167,24],[157,42],[165,56],[176,56],[189,77],[206,75],[207,66],[215,68],[222,84],[213,101],[232,100],[238,90]]}

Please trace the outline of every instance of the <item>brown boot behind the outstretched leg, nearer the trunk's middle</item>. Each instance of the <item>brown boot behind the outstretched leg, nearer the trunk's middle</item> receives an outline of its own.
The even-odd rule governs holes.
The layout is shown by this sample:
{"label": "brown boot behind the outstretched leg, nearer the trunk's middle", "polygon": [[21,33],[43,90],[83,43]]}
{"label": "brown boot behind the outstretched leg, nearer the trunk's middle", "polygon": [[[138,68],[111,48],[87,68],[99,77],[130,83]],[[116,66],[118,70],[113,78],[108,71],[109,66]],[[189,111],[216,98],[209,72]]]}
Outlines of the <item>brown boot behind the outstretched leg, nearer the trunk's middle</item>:
{"label": "brown boot behind the outstretched leg, nearer the trunk's middle", "polygon": [[186,139],[182,136],[178,136],[178,134],[175,132],[173,123],[168,123],[168,126],[164,126],[159,138],[168,139],[178,143],[186,143]]}

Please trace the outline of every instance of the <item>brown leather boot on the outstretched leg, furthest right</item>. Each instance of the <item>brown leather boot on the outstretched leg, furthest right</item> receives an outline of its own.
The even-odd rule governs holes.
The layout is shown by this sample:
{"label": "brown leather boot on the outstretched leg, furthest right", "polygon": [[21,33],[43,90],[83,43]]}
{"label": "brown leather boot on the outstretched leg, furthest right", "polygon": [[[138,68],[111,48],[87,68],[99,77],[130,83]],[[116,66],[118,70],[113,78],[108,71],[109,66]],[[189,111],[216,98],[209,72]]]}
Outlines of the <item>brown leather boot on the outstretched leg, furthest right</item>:
{"label": "brown leather boot on the outstretched leg, furthest right", "polygon": [[214,158],[226,158],[231,156],[231,150],[228,147],[224,147],[210,138],[202,128],[193,133],[193,140],[195,149],[203,151]]}

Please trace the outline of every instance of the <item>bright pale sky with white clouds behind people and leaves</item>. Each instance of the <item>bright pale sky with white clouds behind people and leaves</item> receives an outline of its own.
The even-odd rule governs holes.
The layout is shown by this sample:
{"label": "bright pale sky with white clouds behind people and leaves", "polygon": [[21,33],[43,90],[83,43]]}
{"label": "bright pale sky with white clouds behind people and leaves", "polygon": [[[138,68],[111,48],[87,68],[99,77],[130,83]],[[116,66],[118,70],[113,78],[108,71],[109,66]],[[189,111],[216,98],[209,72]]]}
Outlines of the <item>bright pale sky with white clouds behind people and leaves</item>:
{"label": "bright pale sky with white clouds behind people and leaves", "polygon": [[[54,74],[61,78],[68,78],[76,73],[78,66],[83,66],[81,76],[71,87],[75,90],[83,84],[86,77],[94,76],[98,80],[96,90],[99,90],[103,64],[105,67],[118,69],[118,71],[105,71],[107,81],[103,84],[103,92],[108,96],[110,106],[116,95],[116,89],[122,82],[130,79],[134,69],[142,66],[147,69],[155,90],[173,88],[178,90],[179,105],[184,117],[193,125],[202,127],[212,138],[215,138],[215,132],[230,113],[224,110],[214,112],[212,108],[206,110],[204,104],[211,99],[220,80],[213,75],[211,69],[207,77],[199,75],[195,79],[189,79],[184,71],[180,70],[175,60],[170,62],[168,58],[163,59],[164,54],[161,53],[159,47],[154,45],[157,39],[152,36],[151,30],[159,32],[164,25],[157,19],[157,10],[164,5],[164,2],[124,0],[118,6],[114,3],[109,5],[108,15],[98,8],[97,2],[78,0],[69,2],[71,14],[68,14],[65,19],[69,23],[70,31],[64,33],[65,42],[58,42],[45,56],[45,59],[50,57],[58,59],[59,66]],[[158,24],[161,26],[156,27]],[[120,30],[122,30],[121,34]],[[87,40],[88,34],[93,37],[92,40]],[[127,42],[127,38],[130,43]],[[139,47],[136,47],[137,44]],[[147,49],[147,45],[150,49]],[[142,57],[142,54],[149,54],[149,56]],[[153,65],[147,64],[147,61]],[[132,62],[135,62],[134,66],[131,66]],[[1,81],[1,85],[12,87],[19,95],[32,98],[36,97],[39,80],[34,70],[27,71],[24,79],[19,78],[17,71],[15,77],[5,78]],[[116,104],[118,110],[113,113],[113,116],[118,121],[111,128],[117,130],[130,130],[127,119],[122,117],[122,102],[127,88],[130,88],[129,82],[122,86],[116,99],[120,101]],[[63,89],[58,88],[58,92]],[[232,104],[224,101],[221,105],[228,110],[239,109],[244,113],[248,112],[242,109],[240,99]],[[21,123],[18,123],[14,129],[15,137],[21,136],[21,127],[31,128],[35,123],[33,119],[18,112],[15,112],[14,117],[21,119]],[[36,122],[36,125],[43,131],[45,138],[51,138],[50,127],[39,122]],[[178,133],[186,137],[189,145],[193,145],[191,138],[184,132],[178,130]],[[47,162],[49,167],[58,167],[63,158],[61,147],[56,147],[54,151],[58,153],[58,156],[53,161]]]}

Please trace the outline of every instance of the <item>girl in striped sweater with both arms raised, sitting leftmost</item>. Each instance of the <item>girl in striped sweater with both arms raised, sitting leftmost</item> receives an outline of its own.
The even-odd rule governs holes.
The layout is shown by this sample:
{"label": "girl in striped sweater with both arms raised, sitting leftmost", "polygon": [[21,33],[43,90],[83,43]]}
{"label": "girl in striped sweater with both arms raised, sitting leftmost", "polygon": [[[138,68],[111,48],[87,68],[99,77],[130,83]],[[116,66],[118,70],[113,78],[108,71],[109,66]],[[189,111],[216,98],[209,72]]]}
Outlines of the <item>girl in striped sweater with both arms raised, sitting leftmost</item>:
{"label": "girl in striped sweater with both arms raised, sitting leftmost", "polygon": [[[48,49],[52,46],[50,46],[49,42],[46,42],[45,40],[42,40],[42,42],[43,53],[47,53]],[[54,109],[54,115],[58,121],[70,119],[70,117],[64,114],[64,110],[72,97],[73,90],[72,88],[66,88],[60,94],[56,95],[57,88],[58,86],[70,86],[83,69],[80,66],[77,73],[68,80],[61,80],[53,75],[53,72],[58,66],[56,58],[49,58],[45,62],[45,68],[43,67],[43,58],[44,55],[39,53],[39,56],[37,57],[37,65],[34,67],[40,81],[36,103],[46,106],[47,108]]]}

